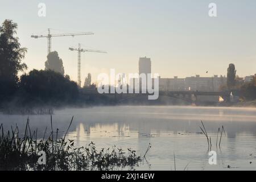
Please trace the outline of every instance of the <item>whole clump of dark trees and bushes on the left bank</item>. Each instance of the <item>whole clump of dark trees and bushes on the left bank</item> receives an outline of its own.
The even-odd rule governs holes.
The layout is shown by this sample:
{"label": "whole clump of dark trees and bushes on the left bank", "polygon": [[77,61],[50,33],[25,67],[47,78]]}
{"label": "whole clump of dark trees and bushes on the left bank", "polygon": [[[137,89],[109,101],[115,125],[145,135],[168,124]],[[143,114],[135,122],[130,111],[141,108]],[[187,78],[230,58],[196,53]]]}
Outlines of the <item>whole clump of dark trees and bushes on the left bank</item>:
{"label": "whole clump of dark trees and bushes on the left bank", "polygon": [[16,37],[18,25],[5,20],[0,26],[0,106],[71,104],[79,95],[76,82],[64,76],[62,60],[57,52],[47,56],[45,70],[32,70],[18,77],[27,65],[22,63],[27,48],[21,47]]}

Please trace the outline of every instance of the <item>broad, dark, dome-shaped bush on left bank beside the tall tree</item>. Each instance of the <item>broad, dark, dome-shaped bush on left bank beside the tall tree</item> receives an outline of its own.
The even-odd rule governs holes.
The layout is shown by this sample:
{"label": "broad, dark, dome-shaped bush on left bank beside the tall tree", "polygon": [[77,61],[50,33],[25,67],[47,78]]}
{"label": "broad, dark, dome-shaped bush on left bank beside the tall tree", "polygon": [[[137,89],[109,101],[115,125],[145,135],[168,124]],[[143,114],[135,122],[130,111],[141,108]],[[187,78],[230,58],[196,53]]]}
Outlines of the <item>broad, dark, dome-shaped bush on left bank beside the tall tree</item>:
{"label": "broad, dark, dome-shaped bush on left bank beside the tall tree", "polygon": [[72,103],[79,95],[76,82],[68,80],[60,73],[34,69],[22,75],[19,82],[23,101],[35,104]]}

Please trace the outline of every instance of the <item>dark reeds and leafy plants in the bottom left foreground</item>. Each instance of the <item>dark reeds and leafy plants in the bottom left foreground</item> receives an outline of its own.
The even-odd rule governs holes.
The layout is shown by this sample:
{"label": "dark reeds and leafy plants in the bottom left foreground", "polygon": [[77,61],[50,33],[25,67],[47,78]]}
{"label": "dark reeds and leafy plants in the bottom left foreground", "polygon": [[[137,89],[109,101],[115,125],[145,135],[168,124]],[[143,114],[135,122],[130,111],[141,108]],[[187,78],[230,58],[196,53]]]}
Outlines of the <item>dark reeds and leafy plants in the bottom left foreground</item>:
{"label": "dark reeds and leafy plants in the bottom left foreground", "polygon": [[[73,118],[69,127],[72,121]],[[29,119],[24,134],[19,133],[18,126],[5,132],[1,125],[0,131],[0,170],[131,170],[142,161],[141,156],[137,156],[131,148],[127,149],[127,153],[115,146],[97,150],[93,142],[77,148],[74,140],[66,139],[68,130],[63,137],[59,137],[58,129],[51,129],[49,136],[46,136],[46,129],[44,137],[38,139],[38,131],[31,131]],[[39,163],[42,151],[46,154],[45,164]]]}

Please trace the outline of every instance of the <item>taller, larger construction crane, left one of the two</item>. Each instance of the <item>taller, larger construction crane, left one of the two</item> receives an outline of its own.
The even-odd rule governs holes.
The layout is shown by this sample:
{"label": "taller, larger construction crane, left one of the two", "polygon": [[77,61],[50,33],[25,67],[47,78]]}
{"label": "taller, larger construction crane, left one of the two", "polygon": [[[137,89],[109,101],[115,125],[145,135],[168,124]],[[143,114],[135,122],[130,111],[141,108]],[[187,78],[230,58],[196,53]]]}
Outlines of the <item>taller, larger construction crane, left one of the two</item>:
{"label": "taller, larger construction crane, left one of the two", "polygon": [[81,33],[71,33],[71,34],[51,34],[50,29],[48,28],[48,35],[31,35],[31,38],[47,38],[48,52],[47,55],[51,52],[52,49],[52,38],[56,36],[77,36],[77,35],[93,35],[93,32],[81,32]]}

